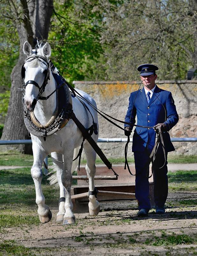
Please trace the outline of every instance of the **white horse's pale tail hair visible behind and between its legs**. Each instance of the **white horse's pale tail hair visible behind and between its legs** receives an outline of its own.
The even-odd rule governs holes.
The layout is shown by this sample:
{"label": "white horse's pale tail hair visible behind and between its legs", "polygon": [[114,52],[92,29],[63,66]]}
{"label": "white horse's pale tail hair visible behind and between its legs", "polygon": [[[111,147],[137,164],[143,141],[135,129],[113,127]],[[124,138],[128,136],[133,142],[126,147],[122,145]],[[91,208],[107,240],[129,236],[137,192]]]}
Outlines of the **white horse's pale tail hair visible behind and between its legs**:
{"label": "white horse's pale tail hair visible behind and between its legs", "polygon": [[[75,159],[77,157],[77,155],[79,153],[79,149],[80,149],[80,147],[74,149],[73,159]],[[82,160],[82,158],[83,158],[83,152],[82,152],[81,160]],[[71,168],[72,173],[77,170],[78,163],[79,163],[79,157],[72,163],[72,168]],[[59,187],[58,181],[57,181],[57,176],[56,176],[56,171],[58,168],[59,167],[55,164],[53,166],[53,170],[50,172],[50,175],[47,178],[47,180],[49,180],[49,184],[55,186],[56,188]]]}

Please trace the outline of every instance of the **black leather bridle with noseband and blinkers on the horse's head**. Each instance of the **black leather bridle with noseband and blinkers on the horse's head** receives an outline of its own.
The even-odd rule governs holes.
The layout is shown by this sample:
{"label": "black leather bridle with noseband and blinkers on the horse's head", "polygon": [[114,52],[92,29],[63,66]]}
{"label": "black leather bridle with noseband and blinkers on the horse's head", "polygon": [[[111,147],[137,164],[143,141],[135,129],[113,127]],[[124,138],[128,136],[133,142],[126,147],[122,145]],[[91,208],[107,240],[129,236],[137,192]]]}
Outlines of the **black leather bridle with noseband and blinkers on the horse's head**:
{"label": "black leather bridle with noseband and blinkers on the horse's head", "polygon": [[[31,55],[31,56],[26,58],[26,62],[30,62],[34,59],[39,59],[43,64],[45,64],[47,66],[47,70],[44,72],[45,73],[45,78],[44,78],[44,81],[43,81],[41,86],[39,86],[34,80],[28,80],[25,83],[25,71],[26,70],[25,70],[25,67],[24,67],[24,64],[25,64],[24,63],[22,68],[21,68],[21,77],[22,77],[22,82],[23,82],[23,94],[25,95],[25,89],[26,89],[27,84],[34,84],[39,89],[37,100],[40,100],[40,99],[42,99],[41,94],[44,92],[45,86],[47,85],[48,80],[50,80],[49,62],[47,61],[47,59],[45,57],[43,57],[41,55]],[[42,60],[44,60],[44,61],[42,61]]]}

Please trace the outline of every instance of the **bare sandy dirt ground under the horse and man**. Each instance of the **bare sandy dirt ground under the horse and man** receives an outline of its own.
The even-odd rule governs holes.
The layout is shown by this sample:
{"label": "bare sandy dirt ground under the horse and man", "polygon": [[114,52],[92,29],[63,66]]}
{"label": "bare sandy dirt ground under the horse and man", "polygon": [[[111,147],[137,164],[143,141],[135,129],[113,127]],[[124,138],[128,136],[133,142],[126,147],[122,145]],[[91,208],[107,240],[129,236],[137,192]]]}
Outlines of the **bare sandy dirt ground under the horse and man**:
{"label": "bare sandy dirt ground under the horse and man", "polygon": [[[136,217],[136,201],[101,202],[98,216],[76,213],[76,225],[68,226],[56,223],[55,207],[49,223],[9,228],[0,240],[15,240],[35,255],[197,255],[197,208],[172,204],[180,199],[197,193],[170,193],[166,213],[152,209],[145,218]],[[190,241],[167,242],[179,235]]]}

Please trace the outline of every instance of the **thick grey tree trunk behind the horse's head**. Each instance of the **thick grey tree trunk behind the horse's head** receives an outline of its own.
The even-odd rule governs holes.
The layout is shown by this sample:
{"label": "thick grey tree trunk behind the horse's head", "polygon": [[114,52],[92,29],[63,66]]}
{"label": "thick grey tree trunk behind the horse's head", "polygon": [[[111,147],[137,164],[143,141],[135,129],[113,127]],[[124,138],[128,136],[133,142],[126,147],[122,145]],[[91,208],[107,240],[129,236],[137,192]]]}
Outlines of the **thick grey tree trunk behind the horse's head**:
{"label": "thick grey tree trunk behind the horse's head", "polygon": [[[47,40],[53,10],[53,0],[30,0],[28,2],[28,9],[26,0],[21,0],[21,5],[24,19],[21,24],[18,24],[20,52],[18,63],[11,72],[11,95],[1,140],[30,139],[23,121],[23,105],[21,101],[23,96],[22,92],[18,90],[18,88],[22,88],[20,73],[26,57],[23,53],[23,44],[28,40],[33,46],[33,38]],[[32,146],[28,144],[6,145],[1,147],[1,151],[11,149],[17,149],[25,154],[32,152]]]}

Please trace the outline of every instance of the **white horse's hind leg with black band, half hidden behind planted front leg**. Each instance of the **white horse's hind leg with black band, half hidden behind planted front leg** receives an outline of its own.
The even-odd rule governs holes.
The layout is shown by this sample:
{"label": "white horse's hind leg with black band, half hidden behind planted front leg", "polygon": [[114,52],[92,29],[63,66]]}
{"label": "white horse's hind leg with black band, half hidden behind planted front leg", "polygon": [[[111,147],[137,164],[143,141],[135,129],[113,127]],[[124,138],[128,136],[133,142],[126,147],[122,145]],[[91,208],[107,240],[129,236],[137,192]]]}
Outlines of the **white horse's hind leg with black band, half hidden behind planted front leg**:
{"label": "white horse's hind leg with black band, half hidden behind planted front leg", "polygon": [[[57,161],[55,161],[53,159],[53,163],[55,165],[55,171],[56,171],[56,177],[57,177],[57,181],[60,187],[60,201],[59,202],[59,212],[57,213],[57,219],[56,222],[58,223],[62,223],[63,219],[64,219],[64,214],[65,214],[65,189],[64,186],[62,184],[62,171],[63,171],[63,157],[62,154],[60,153],[56,153],[56,152],[52,152],[51,156],[53,158],[55,158]],[[58,162],[59,161],[59,162]]]}

